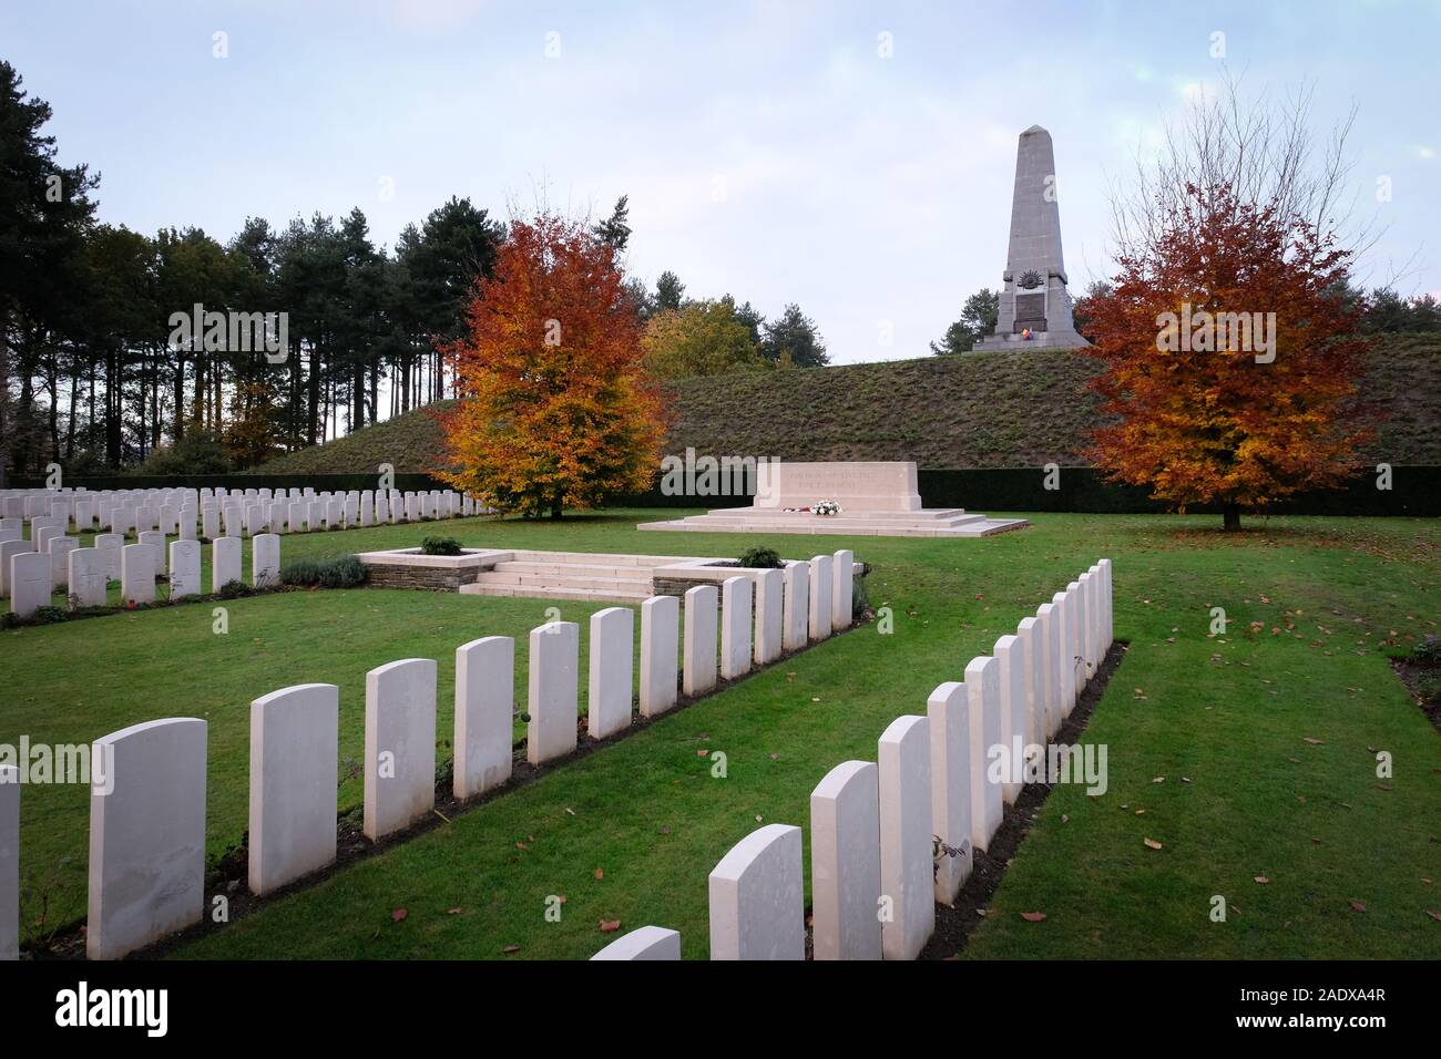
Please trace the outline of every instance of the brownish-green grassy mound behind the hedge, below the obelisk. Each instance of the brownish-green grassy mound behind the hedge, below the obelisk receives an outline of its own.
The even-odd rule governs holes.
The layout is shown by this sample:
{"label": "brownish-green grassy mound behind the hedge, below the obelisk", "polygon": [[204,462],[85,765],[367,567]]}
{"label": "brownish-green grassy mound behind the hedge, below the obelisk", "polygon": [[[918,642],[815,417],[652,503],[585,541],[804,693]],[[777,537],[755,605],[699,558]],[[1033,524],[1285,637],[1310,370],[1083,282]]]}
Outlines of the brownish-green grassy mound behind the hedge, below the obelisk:
{"label": "brownish-green grassy mound behind the hedge, below the obelisk", "polygon": [[[1084,463],[1097,424],[1085,389],[1097,363],[1027,350],[895,360],[808,372],[762,372],[672,385],[667,451],[784,460],[914,460],[921,467],[1040,467]],[[1441,464],[1441,339],[1389,336],[1365,388],[1389,415],[1369,452],[1391,464]],[[438,465],[425,411],[304,450],[271,473],[373,473]]]}

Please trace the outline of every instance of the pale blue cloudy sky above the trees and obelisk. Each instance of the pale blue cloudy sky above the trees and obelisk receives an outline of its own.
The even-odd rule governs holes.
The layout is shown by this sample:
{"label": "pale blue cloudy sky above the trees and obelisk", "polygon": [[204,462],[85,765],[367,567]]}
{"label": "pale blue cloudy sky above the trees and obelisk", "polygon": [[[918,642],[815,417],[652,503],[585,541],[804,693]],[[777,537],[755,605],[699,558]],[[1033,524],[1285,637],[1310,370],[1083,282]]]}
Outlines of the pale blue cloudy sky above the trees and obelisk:
{"label": "pale blue cloudy sky above the trees and obelisk", "polygon": [[360,206],[393,243],[450,195],[602,215],[628,193],[634,274],[798,301],[846,363],[927,354],[999,285],[1032,124],[1072,292],[1107,274],[1108,180],[1221,76],[1218,30],[1248,92],[1314,81],[1323,133],[1359,107],[1357,215],[1386,226],[1362,275],[1441,292],[1435,0],[6,0],[0,58],[53,105],[63,160],[102,173],[104,220],[223,241]]}

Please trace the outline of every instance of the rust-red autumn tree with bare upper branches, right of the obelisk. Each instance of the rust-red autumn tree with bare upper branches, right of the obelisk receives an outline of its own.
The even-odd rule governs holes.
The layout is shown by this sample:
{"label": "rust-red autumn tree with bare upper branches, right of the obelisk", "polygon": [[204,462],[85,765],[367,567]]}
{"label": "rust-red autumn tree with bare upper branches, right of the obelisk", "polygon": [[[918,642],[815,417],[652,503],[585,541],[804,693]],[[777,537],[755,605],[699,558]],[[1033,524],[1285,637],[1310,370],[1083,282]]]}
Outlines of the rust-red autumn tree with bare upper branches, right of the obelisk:
{"label": "rust-red autumn tree with bare upper branches, right of the obelisk", "polygon": [[[1280,120],[1233,97],[1117,207],[1120,271],[1088,303],[1082,350],[1111,424],[1089,457],[1112,481],[1228,530],[1357,470],[1368,340],[1342,297],[1355,251],[1334,219],[1339,151],[1308,176],[1304,105]],[[1337,141],[1343,141],[1342,135]]]}

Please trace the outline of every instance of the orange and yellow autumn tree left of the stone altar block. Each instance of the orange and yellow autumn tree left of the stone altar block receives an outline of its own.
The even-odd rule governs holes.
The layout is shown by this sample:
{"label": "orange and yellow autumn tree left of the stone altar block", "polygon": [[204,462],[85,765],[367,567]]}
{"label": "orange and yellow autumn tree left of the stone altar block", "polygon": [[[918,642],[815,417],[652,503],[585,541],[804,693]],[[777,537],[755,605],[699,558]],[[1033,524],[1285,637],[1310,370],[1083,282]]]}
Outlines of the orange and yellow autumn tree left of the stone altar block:
{"label": "orange and yellow autumn tree left of the stone altar block", "polygon": [[552,213],[513,220],[467,324],[445,347],[458,401],[440,477],[553,519],[651,486],[666,414],[612,246]]}

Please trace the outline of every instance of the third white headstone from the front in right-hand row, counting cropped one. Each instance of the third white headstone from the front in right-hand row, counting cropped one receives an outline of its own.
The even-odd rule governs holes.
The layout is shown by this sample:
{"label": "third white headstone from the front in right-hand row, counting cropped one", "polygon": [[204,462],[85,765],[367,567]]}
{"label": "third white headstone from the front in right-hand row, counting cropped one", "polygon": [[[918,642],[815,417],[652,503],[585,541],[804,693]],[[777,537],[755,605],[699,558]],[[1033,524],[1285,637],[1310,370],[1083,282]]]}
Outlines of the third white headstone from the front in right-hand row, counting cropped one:
{"label": "third white headstone from the front in right-hand row, counting cropped one", "polygon": [[811,791],[816,960],[880,960],[880,771],[836,765]]}

